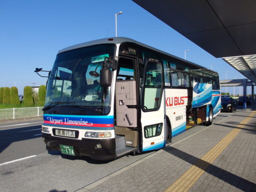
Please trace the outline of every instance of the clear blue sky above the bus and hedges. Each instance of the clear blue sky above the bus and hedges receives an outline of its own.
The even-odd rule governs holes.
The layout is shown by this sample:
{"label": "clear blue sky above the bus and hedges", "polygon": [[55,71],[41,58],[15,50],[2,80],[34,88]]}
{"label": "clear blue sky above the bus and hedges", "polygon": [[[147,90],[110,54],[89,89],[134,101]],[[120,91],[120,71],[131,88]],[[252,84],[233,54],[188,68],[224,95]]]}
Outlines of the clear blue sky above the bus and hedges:
{"label": "clear blue sky above the bus and hedges", "polygon": [[[51,70],[58,50],[91,40],[128,37],[211,68],[220,79],[244,78],[131,0],[0,0],[0,87],[45,84],[34,70]],[[177,21],[178,22],[178,21]],[[45,74],[47,75],[47,73]],[[248,88],[248,94],[251,93]],[[223,87],[221,91],[225,92]],[[228,87],[233,93],[233,87]],[[235,94],[239,93],[239,88]]]}

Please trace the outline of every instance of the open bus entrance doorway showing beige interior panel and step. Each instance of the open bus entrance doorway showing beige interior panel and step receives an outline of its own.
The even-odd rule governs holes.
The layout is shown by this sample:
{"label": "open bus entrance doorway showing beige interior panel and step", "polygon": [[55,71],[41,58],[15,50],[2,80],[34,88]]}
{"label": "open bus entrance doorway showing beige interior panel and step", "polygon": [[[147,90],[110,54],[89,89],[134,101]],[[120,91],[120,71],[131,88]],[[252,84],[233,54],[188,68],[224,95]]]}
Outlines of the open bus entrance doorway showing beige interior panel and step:
{"label": "open bus entrance doorway showing beige interior panel and step", "polygon": [[120,57],[116,79],[116,156],[138,148],[136,60]]}

